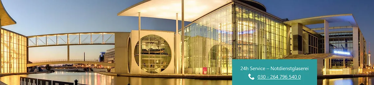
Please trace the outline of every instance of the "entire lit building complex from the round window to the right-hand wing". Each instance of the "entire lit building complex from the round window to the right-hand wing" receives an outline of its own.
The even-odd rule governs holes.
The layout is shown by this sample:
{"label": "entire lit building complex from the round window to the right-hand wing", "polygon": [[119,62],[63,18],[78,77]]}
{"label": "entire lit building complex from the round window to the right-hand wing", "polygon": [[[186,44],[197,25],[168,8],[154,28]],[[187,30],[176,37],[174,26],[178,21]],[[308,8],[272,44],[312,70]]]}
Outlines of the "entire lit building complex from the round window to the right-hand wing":
{"label": "entire lit building complex from the round window to the right-hand wing", "polygon": [[[181,15],[182,6],[184,15]],[[358,73],[362,72],[365,65],[366,56],[361,55],[365,54],[364,38],[352,14],[288,20],[267,13],[263,4],[253,0],[186,0],[183,4],[181,0],[144,0],[117,15],[137,16],[139,24],[141,17],[191,22],[183,29],[177,26],[174,37],[165,37],[169,32],[133,30],[127,40],[128,73],[232,75],[232,59],[317,59],[318,75]],[[350,42],[352,44],[349,40],[336,42],[334,32],[331,32],[333,36],[325,37],[315,31],[331,29],[328,23],[335,22],[349,22],[353,28],[353,37],[362,40],[353,38]],[[322,28],[310,29],[305,26],[322,23],[325,25]],[[164,35],[154,35],[150,31]],[[330,34],[328,30],[324,33]],[[168,41],[171,38],[174,40]],[[140,41],[143,44],[140,49],[134,44],[138,40],[144,40]],[[163,40],[165,43],[157,43]],[[324,42],[329,44],[325,45]],[[342,43],[344,47],[341,47]],[[169,48],[165,47],[169,47],[171,52],[166,51]],[[340,59],[345,59],[343,64]],[[344,66],[340,65],[347,66],[343,69]],[[170,69],[174,69],[174,72]]]}

